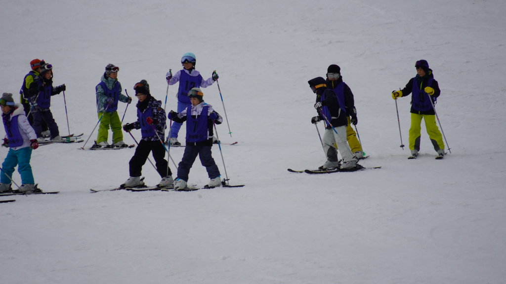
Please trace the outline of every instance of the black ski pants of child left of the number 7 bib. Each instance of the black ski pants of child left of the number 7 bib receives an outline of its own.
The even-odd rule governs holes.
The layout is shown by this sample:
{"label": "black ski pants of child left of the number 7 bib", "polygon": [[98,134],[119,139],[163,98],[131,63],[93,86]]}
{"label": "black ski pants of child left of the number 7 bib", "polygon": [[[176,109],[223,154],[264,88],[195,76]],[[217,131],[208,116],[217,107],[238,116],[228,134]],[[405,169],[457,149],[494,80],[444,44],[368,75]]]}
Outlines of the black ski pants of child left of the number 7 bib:
{"label": "black ski pants of child left of the number 7 bib", "polygon": [[[130,176],[141,176],[142,166],[148,159],[149,152],[153,152],[153,158],[155,159],[156,171],[161,177],[167,176],[168,163],[165,160],[165,148],[159,140],[146,141],[142,140],[139,146],[135,149],[135,154],[130,159]],[[171,168],[168,168],[168,175],[172,175]]]}

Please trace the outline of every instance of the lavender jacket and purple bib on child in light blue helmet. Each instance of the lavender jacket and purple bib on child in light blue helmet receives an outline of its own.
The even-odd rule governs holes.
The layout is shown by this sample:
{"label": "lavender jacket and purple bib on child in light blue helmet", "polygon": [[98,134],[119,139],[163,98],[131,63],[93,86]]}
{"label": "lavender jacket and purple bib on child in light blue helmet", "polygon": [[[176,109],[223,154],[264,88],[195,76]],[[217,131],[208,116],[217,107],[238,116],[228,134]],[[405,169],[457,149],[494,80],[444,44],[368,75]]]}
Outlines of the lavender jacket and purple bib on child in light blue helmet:
{"label": "lavender jacket and purple bib on child in light blue helmet", "polygon": [[[184,74],[181,74],[181,72],[183,72]],[[187,78],[192,77],[192,78],[188,78],[189,80],[184,80],[183,77],[187,77]],[[195,77],[197,77],[197,78],[195,78]],[[198,77],[200,77],[200,78],[198,78]],[[204,80],[204,78],[202,78],[202,76],[200,75],[200,72],[198,72],[195,69],[193,69],[191,71],[183,69],[183,70],[179,70],[178,72],[176,72],[176,74],[174,74],[174,76],[171,78],[171,80],[167,81],[167,83],[169,85],[174,85],[175,83],[179,82],[180,80],[181,80],[181,82],[179,83],[179,89],[178,89],[178,93],[176,94],[176,98],[178,98],[178,100],[181,103],[185,103],[185,104],[190,104],[190,99],[188,98],[188,91],[189,90],[191,90],[192,88],[205,88],[205,87],[212,85],[215,82],[215,80],[213,80],[213,77],[210,77],[207,80]]]}

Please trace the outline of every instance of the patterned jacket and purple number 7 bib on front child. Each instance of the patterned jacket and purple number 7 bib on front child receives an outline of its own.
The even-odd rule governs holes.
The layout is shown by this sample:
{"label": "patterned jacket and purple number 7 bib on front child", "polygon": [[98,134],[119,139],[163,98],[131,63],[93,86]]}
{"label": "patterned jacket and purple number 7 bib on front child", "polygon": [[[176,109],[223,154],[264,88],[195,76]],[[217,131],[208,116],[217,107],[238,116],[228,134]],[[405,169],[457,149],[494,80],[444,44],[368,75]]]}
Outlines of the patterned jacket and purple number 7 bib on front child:
{"label": "patterned jacket and purple number 7 bib on front child", "polygon": [[[202,114],[202,112],[206,109],[207,113],[204,112],[204,114]],[[188,113],[188,110],[190,110],[190,113]],[[196,129],[195,131],[192,129],[194,126],[196,126],[196,124],[193,125],[192,123],[192,125],[190,125],[190,123],[186,122],[186,146],[213,146],[213,122],[216,124],[221,124],[223,122],[223,118],[217,112],[215,112],[213,106],[208,105],[204,102],[198,104],[195,107],[190,106],[184,109],[181,113],[178,113],[175,117],[169,118],[171,118],[174,122],[183,123],[187,121],[189,115],[191,116],[192,120],[196,120],[202,115],[207,116],[207,138],[203,141],[197,142],[192,142],[192,137],[188,139],[188,134],[196,131]]]}

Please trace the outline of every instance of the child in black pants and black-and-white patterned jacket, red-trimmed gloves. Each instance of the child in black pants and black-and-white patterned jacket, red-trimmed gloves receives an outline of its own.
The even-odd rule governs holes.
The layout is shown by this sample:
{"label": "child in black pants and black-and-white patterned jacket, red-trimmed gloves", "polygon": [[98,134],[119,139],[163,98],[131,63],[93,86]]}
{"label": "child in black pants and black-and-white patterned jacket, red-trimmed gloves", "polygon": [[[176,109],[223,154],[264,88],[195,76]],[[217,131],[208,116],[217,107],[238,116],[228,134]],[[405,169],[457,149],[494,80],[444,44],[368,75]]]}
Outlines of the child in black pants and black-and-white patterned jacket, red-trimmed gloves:
{"label": "child in black pants and black-and-white patterned jacket, red-trimmed gloves", "polygon": [[[156,171],[162,177],[158,184],[160,187],[172,188],[174,179],[172,171],[168,168],[165,158],[165,147],[159,137],[163,137],[166,128],[165,111],[161,108],[161,101],[151,97],[149,84],[141,80],[134,86],[137,103],[137,121],[126,123],[123,130],[130,132],[132,129],[141,129],[142,139],[135,150],[134,157],[130,160],[130,178],[120,187],[138,187],[144,185],[141,181],[142,166],[146,163],[149,153],[153,153]],[[167,174],[168,172],[168,174]]]}

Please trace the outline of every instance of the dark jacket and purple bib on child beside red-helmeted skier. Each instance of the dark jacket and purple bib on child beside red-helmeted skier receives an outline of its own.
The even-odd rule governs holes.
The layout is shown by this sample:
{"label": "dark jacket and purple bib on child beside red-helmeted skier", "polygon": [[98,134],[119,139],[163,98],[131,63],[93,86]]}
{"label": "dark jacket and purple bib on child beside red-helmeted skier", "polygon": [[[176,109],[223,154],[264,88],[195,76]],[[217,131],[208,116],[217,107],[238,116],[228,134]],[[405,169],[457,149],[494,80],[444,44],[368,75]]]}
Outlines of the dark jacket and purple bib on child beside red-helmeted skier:
{"label": "dark jacket and purple bib on child beside red-helmeted skier", "polygon": [[[44,89],[39,91],[37,88],[44,85]],[[34,81],[30,83],[28,94],[30,96],[30,105],[33,106],[32,113],[47,112],[51,106],[51,97],[60,92],[53,87],[53,79],[46,79],[41,75],[35,77]]]}

